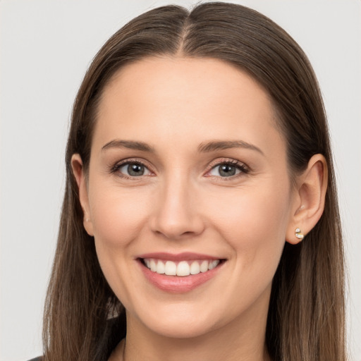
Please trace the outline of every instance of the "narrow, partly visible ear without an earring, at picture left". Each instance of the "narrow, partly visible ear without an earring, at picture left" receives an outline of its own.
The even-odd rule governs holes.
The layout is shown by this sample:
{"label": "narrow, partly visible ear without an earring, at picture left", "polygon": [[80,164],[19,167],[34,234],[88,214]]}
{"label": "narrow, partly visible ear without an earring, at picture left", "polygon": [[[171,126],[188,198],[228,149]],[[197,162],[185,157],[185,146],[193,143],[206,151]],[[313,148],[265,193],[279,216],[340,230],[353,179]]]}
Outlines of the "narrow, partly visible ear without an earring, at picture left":
{"label": "narrow, partly visible ear without an earring, at picture left", "polygon": [[87,195],[87,179],[82,166],[80,154],[73,154],[71,157],[71,168],[73,169],[73,174],[75,176],[76,183],[78,184],[80,205],[82,207],[82,212],[84,212],[83,224],[85,231],[87,231],[89,235],[94,235]]}

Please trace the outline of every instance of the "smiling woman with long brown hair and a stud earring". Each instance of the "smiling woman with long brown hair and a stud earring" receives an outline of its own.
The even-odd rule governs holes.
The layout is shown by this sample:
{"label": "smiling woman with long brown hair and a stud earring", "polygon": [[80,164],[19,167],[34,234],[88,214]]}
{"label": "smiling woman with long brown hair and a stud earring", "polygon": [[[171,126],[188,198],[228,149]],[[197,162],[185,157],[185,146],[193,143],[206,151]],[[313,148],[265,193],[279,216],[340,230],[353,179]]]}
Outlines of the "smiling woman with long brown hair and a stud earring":
{"label": "smiling woman with long brown hair and a stud earring", "polygon": [[305,54],[243,6],[165,6],[75,99],[44,360],[345,360],[343,245]]}

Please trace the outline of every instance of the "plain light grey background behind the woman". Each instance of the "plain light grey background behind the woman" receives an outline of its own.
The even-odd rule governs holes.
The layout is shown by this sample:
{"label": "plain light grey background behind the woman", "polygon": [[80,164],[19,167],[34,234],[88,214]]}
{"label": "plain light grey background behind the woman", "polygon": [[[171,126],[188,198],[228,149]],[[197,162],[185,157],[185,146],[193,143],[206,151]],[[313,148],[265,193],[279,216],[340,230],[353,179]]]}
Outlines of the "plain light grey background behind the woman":
{"label": "plain light grey background behind the woman", "polygon": [[[71,106],[92,57],[121,25],[172,1],[0,1],[0,360],[42,353]],[[195,1],[173,1],[190,6]],[[301,45],[319,78],[336,159],[348,268],[348,334],[361,361],[361,2],[233,1]],[[332,235],[330,235],[331,237]]]}

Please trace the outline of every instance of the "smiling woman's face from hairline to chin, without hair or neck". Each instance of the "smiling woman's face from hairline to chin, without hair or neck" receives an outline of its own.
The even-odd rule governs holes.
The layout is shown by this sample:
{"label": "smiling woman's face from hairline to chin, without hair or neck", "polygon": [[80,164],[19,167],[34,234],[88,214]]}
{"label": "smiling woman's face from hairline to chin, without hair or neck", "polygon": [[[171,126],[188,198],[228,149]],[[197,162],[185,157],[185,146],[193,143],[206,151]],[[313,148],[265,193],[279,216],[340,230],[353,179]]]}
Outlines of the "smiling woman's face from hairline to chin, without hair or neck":
{"label": "smiling woman's face from hairline to chin, without hair or neck", "polygon": [[137,324],[181,338],[265,327],[295,197],[271,101],[246,73],[214,59],[122,68],[99,104],[80,197]]}

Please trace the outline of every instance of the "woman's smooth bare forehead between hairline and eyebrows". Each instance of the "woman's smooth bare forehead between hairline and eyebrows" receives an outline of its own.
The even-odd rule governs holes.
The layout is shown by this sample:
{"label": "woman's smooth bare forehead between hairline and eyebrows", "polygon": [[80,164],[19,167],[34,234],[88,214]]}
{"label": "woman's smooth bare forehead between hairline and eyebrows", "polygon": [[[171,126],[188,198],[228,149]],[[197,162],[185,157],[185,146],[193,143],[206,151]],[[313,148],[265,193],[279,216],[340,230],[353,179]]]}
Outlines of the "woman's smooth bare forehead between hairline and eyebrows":
{"label": "woman's smooth bare forehead between hairline and eyebrows", "polygon": [[229,63],[152,57],[124,66],[106,85],[94,135],[104,144],[118,136],[262,142],[279,133],[274,114],[264,88]]}

